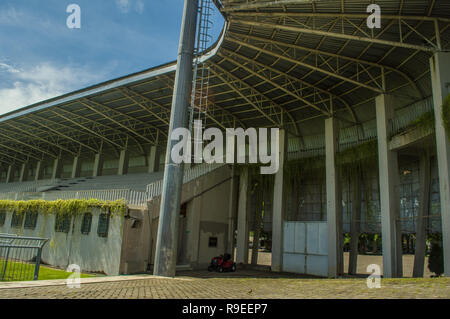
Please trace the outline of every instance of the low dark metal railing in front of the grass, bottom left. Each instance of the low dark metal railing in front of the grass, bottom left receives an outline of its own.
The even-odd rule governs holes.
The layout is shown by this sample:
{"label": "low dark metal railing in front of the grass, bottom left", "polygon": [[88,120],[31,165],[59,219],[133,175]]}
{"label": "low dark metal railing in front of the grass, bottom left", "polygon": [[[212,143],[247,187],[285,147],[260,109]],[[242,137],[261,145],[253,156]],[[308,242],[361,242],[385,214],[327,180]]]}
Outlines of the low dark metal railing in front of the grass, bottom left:
{"label": "low dark metal railing in front of the grass, bottom left", "polygon": [[46,238],[0,234],[0,281],[38,280]]}

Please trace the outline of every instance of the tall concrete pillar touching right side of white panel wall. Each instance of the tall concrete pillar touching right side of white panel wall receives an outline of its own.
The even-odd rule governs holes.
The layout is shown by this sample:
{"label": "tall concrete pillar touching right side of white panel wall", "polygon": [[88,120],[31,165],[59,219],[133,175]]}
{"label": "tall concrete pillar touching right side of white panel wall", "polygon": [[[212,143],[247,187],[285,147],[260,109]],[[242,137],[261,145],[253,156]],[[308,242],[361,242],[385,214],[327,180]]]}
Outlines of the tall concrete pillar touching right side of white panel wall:
{"label": "tall concrete pillar touching right side of white panel wall", "polygon": [[328,276],[344,273],[342,238],[342,195],[339,172],[336,168],[338,123],[335,118],[325,120],[325,165],[327,189]]}

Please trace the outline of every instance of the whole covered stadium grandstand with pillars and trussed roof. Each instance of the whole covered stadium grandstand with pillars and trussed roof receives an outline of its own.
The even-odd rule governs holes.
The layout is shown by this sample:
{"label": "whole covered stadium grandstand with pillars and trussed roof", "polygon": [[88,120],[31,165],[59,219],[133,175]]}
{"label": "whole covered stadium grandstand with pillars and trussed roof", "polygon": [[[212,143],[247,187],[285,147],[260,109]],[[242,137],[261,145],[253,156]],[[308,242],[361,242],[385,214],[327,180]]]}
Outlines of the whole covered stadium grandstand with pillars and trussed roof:
{"label": "whole covered stadium grandstand with pillars and trussed roof", "polygon": [[[385,277],[402,276],[402,253],[415,254],[421,277],[433,239],[450,275],[450,2],[377,0],[382,25],[373,29],[367,0],[212,3],[200,9],[220,10],[225,25],[206,50],[197,45],[194,83],[205,103],[194,101],[193,116],[223,131],[280,128],[283,161],[274,176],[252,165],[186,167],[177,263],[201,268],[232,252],[257,264],[264,240],[272,271],[336,277],[356,273],[358,251],[370,246]],[[151,269],[176,68],[0,116],[0,199],[124,199],[129,207],[106,239],[92,232],[62,250],[54,247],[79,242],[79,230],[13,228],[5,212],[0,232],[43,232],[55,243],[44,259],[61,267]],[[70,249],[89,251],[89,261]]]}

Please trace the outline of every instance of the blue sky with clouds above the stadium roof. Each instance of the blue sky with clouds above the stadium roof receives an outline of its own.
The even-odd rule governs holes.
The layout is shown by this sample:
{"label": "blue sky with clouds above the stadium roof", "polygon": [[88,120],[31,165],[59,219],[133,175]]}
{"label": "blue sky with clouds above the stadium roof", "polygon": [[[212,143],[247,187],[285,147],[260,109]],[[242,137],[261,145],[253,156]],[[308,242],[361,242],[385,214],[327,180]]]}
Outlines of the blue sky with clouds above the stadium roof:
{"label": "blue sky with clouds above the stadium roof", "polygon": [[[81,29],[66,25],[69,4]],[[0,114],[176,59],[183,0],[1,0]],[[215,10],[214,41],[223,26]]]}

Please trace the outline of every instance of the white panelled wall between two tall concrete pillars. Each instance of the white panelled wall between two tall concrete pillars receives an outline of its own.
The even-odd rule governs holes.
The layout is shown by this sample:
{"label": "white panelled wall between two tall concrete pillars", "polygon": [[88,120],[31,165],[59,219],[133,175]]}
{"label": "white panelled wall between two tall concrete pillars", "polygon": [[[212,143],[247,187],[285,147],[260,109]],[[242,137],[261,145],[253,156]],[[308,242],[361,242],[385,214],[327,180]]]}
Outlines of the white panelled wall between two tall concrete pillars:
{"label": "white panelled wall between two tall concrete pillars", "polygon": [[285,222],[283,271],[328,275],[326,222]]}

